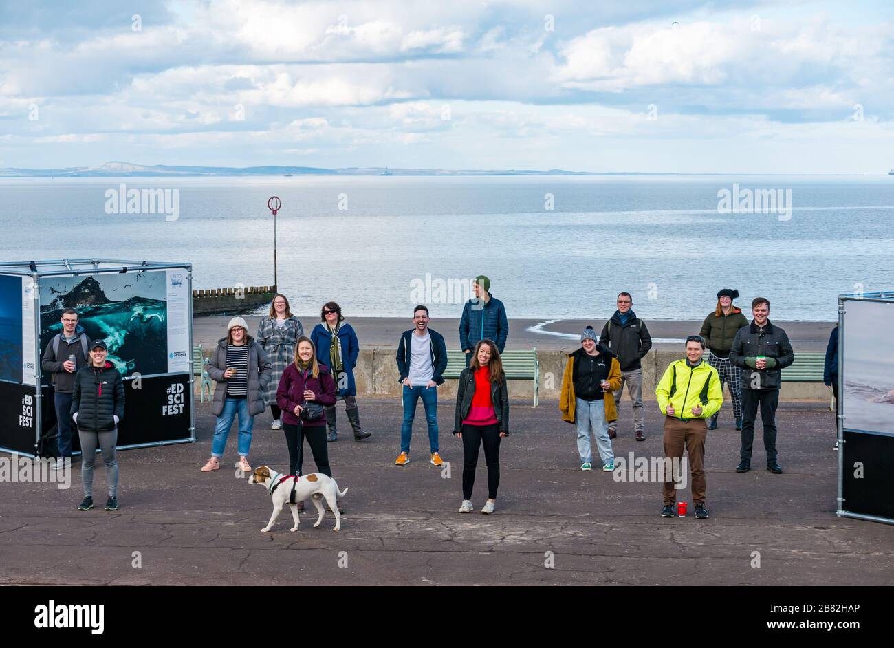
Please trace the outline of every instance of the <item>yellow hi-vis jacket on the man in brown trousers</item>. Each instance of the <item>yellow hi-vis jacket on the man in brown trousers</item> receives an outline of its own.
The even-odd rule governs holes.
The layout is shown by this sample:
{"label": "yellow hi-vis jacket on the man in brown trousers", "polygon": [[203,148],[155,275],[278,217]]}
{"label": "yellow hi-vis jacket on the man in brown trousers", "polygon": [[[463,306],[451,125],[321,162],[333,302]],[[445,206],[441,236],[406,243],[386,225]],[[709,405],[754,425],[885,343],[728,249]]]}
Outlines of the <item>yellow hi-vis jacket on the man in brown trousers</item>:
{"label": "yellow hi-vis jacket on the man in brown trousers", "polygon": [[[717,369],[702,362],[695,367],[686,364],[686,358],[671,362],[662,380],[655,388],[658,408],[667,415],[668,405],[674,409],[674,418],[708,418],[723,405],[723,387]],[[692,408],[701,406],[696,416]]]}

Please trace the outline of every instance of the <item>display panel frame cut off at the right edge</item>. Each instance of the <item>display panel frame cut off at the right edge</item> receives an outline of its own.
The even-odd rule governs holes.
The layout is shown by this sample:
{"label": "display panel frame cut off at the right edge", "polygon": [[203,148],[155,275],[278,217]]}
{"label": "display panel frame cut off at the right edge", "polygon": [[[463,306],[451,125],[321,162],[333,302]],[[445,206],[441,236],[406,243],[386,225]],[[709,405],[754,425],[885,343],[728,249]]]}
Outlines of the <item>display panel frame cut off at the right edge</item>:
{"label": "display panel frame cut off at the right edge", "polygon": [[839,295],[841,518],[894,524],[894,290]]}

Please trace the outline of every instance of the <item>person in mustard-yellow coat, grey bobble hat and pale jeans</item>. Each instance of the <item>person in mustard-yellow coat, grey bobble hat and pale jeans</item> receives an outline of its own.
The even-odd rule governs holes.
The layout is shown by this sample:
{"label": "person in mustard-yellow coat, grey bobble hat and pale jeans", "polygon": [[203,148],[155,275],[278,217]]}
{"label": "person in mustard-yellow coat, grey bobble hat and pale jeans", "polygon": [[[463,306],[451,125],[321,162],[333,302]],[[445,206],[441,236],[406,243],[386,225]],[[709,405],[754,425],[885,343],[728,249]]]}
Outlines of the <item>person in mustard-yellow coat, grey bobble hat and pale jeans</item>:
{"label": "person in mustard-yellow coat, grey bobble hat and pale jeans", "polygon": [[578,425],[580,469],[593,470],[590,430],[603,461],[603,471],[614,470],[608,425],[618,420],[613,391],[620,389],[620,363],[609,349],[596,342],[596,332],[587,326],[580,334],[581,348],[569,353],[561,380],[559,408],[562,420]]}

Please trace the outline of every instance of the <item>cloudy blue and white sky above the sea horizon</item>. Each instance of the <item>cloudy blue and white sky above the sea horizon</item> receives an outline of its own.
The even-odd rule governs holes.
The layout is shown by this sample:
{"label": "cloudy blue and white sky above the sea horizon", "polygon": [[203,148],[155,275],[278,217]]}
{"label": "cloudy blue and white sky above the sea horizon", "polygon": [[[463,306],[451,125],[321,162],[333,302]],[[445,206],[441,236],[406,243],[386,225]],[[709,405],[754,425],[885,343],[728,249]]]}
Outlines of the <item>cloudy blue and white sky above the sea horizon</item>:
{"label": "cloudy blue and white sky above the sea horizon", "polygon": [[0,0],[0,167],[887,173],[894,4]]}

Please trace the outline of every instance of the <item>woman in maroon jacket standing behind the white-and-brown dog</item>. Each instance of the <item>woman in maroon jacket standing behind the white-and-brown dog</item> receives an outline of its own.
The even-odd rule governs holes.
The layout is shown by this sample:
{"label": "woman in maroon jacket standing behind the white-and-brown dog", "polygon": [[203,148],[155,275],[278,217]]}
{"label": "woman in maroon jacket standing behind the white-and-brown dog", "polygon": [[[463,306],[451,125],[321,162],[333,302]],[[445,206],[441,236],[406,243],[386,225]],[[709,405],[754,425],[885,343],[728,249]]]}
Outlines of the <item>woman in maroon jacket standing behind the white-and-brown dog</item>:
{"label": "woman in maroon jacket standing behind the white-and-brown dog", "polygon": [[[305,335],[298,339],[295,361],[283,371],[276,389],[276,404],[283,410],[283,432],[289,444],[289,475],[301,474],[307,438],[316,471],[331,477],[324,408],[335,404],[335,383],[329,367],[316,361],[314,343]],[[304,509],[304,502],[299,504],[299,509]]]}

